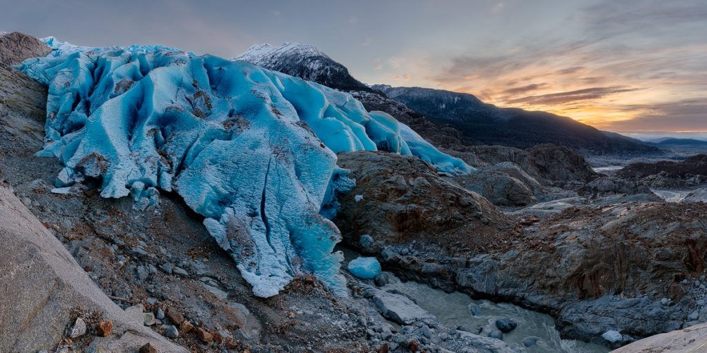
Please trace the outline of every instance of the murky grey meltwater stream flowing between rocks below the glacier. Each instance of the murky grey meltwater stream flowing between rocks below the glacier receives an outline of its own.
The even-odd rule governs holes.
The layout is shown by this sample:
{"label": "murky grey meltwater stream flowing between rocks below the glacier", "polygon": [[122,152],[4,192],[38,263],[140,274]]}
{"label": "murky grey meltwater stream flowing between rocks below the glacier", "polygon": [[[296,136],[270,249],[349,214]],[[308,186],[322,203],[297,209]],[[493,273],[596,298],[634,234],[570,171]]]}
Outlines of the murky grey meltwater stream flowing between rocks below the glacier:
{"label": "murky grey meltwater stream flowing between rocks below the glacier", "polygon": [[[351,249],[338,248],[344,251],[345,262],[358,257]],[[346,268],[344,264],[343,268]],[[385,270],[385,268],[383,268]],[[446,293],[419,282],[402,282],[391,276],[390,283],[382,287],[385,290],[397,290],[413,299],[422,309],[436,316],[448,328],[463,326],[469,332],[477,332],[483,328],[481,335],[488,335],[496,329],[498,318],[510,318],[518,323],[518,327],[503,335],[503,341],[523,347],[522,341],[527,337],[537,338],[534,346],[527,347],[530,353],[606,353],[607,347],[578,340],[563,340],[555,329],[551,316],[538,313],[510,303],[494,303],[489,300],[474,300],[461,292]],[[470,306],[478,306],[478,313],[472,316]]]}

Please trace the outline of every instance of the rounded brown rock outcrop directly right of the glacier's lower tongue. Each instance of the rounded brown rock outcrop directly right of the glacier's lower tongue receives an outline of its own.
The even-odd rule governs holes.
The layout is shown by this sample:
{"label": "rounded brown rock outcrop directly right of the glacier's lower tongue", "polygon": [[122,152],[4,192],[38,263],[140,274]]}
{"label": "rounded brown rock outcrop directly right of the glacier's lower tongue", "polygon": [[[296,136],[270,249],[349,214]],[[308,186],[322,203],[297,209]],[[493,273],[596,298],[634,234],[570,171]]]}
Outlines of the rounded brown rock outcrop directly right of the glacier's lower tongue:
{"label": "rounded brown rock outcrop directly right of the glacier's lower tongue", "polygon": [[485,198],[443,179],[417,158],[361,151],[339,154],[339,166],[356,179],[354,189],[339,197],[336,220],[354,246],[364,234],[377,244],[494,246],[498,227],[508,223]]}

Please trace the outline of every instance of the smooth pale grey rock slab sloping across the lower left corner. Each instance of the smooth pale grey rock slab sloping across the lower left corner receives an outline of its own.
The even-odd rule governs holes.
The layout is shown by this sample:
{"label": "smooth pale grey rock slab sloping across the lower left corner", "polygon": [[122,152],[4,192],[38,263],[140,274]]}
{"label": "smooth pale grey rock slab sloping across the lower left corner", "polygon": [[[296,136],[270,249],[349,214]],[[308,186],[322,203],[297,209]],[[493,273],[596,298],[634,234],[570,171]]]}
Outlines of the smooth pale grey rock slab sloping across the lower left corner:
{"label": "smooth pale grey rock slab sloping across the lower left corner", "polygon": [[23,203],[0,185],[0,352],[51,350],[74,322],[71,312],[98,311],[112,334],[88,349],[137,352],[147,342],[160,352],[187,352],[136,323],[88,275]]}

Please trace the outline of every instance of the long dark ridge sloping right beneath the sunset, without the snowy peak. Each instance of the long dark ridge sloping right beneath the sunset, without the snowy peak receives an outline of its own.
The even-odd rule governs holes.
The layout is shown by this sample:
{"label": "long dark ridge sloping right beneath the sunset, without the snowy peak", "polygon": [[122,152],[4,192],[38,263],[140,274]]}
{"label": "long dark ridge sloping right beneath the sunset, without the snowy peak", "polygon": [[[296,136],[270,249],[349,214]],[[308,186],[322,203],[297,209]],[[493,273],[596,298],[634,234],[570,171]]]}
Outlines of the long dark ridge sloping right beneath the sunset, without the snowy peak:
{"label": "long dark ridge sloping right beneath the sunset, without the snowy peak", "polygon": [[471,144],[528,148],[554,143],[588,155],[660,153],[658,148],[639,140],[600,131],[567,116],[496,107],[468,93],[389,85],[373,85],[372,88],[432,121],[456,126]]}

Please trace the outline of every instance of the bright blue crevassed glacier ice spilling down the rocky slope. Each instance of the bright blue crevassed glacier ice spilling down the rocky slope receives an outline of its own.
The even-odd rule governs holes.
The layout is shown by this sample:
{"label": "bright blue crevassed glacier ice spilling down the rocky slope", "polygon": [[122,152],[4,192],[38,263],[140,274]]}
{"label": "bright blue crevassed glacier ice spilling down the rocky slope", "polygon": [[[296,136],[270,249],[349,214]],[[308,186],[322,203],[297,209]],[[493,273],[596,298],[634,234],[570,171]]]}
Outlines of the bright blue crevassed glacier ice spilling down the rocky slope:
{"label": "bright blue crevassed glacier ice spilling down the rocky slope", "polygon": [[337,190],[353,181],[336,152],[415,155],[449,173],[471,167],[351,95],[243,61],[160,46],[76,47],[18,68],[49,86],[45,148],[101,196],[147,208],[176,191],[259,297],[314,273],[345,294]]}

